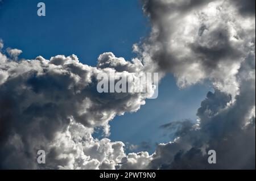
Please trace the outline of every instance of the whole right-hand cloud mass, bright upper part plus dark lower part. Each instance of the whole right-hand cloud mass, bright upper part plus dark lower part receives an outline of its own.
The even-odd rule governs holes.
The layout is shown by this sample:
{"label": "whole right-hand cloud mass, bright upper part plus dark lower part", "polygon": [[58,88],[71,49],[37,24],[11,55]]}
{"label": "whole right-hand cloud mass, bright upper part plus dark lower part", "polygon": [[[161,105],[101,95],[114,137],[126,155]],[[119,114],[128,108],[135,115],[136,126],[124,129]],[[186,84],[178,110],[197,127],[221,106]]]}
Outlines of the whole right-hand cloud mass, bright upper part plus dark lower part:
{"label": "whole right-hand cloud mass, bright upper part plus dark lower part", "polygon": [[[185,87],[209,79],[215,88],[189,120],[162,125],[174,141],[159,144],[144,169],[255,169],[255,7],[252,1],[146,0],[151,36],[145,62]],[[155,68],[154,67],[154,68]],[[217,164],[208,163],[208,150]],[[142,162],[136,157],[123,168]],[[146,161],[143,161],[146,163]]]}

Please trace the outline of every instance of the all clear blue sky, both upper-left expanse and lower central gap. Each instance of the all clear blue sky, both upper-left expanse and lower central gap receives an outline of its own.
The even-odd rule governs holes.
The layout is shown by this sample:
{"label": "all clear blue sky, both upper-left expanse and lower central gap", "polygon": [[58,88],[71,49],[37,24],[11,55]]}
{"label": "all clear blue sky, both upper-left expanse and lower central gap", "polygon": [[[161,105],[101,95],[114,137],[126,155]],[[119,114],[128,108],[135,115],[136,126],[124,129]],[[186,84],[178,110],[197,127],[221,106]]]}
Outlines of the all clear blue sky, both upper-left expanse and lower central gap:
{"label": "all clear blue sky, both upper-left expanse and lower central gap", "polygon": [[[45,0],[45,17],[36,14],[38,2],[4,1],[5,8],[0,10],[0,24],[4,25],[0,39],[5,47],[21,49],[21,58],[76,54],[83,64],[94,66],[101,53],[113,52],[130,60],[136,56],[132,45],[150,32],[137,0]],[[207,85],[180,90],[174,77],[168,75],[160,83],[158,99],[146,100],[136,113],[115,117],[110,123],[110,139],[135,145],[149,142],[147,151],[151,152],[155,142],[170,141],[159,126],[181,119],[196,120],[197,108],[209,90]]]}

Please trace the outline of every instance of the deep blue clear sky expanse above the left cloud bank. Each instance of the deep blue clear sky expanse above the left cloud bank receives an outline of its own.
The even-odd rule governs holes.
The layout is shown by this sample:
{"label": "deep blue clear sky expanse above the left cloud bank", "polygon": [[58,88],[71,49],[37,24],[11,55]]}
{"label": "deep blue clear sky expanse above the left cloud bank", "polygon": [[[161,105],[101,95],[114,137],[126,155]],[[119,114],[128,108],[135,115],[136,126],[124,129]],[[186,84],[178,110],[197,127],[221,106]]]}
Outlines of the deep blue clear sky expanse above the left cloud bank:
{"label": "deep blue clear sky expanse above the left cloud bank", "polygon": [[1,38],[6,46],[24,49],[21,57],[27,59],[76,54],[95,65],[99,54],[113,50],[130,59],[132,45],[150,29],[138,1],[44,1],[44,17],[37,15],[38,1],[3,3]]}

